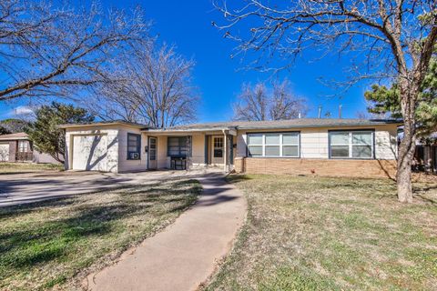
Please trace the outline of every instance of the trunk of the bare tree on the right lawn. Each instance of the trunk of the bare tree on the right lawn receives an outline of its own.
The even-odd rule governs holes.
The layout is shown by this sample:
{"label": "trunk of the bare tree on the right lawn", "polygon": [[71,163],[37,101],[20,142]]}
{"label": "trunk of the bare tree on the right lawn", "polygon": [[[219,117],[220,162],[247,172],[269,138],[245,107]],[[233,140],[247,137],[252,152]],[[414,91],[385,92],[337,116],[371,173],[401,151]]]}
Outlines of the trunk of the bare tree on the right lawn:
{"label": "trunk of the bare tree on the right lawn", "polygon": [[403,116],[403,137],[399,146],[396,183],[398,199],[402,203],[412,203],[412,158],[416,147],[415,103],[419,86],[407,80],[400,81],[401,110]]}

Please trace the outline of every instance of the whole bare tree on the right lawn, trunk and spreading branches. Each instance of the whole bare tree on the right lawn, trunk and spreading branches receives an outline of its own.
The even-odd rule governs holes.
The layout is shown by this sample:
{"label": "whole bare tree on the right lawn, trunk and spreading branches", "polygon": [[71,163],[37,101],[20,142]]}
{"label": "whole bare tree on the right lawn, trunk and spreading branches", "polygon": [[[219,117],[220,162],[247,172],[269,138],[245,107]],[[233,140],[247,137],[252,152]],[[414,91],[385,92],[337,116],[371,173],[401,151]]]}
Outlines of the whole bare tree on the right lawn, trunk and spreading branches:
{"label": "whole bare tree on the right lawn, trunk and spreading branches", "polygon": [[[235,3],[235,2],[234,2]],[[435,0],[296,0],[274,3],[248,0],[236,9],[217,5],[229,20],[226,36],[239,41],[239,52],[290,61],[306,49],[356,56],[355,80],[394,78],[400,85],[404,136],[398,155],[397,185],[401,202],[412,202],[412,156],[416,140],[418,96],[437,39]],[[250,21],[249,34],[232,28]]]}

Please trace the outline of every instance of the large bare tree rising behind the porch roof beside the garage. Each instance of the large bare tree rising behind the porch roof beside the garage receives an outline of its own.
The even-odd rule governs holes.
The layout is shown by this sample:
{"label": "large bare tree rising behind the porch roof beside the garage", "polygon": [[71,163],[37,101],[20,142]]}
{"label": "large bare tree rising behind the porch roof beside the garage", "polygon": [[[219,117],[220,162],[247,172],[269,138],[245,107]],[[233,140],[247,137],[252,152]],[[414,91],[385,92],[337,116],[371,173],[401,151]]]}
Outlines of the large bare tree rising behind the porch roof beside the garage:
{"label": "large bare tree rising behind the porch roof beside the garage", "polygon": [[198,95],[191,85],[192,60],[166,45],[141,46],[118,58],[118,82],[99,86],[89,110],[103,119],[123,119],[162,128],[196,120]]}

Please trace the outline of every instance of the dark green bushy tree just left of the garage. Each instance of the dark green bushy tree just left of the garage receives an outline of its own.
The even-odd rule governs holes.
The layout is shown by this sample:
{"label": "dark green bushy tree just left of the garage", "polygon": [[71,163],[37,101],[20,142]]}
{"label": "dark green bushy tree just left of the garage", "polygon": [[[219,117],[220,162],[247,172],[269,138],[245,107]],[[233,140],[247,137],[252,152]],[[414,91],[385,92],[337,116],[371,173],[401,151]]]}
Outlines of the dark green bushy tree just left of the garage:
{"label": "dark green bushy tree just left of the garage", "polygon": [[86,109],[53,102],[36,109],[36,120],[26,127],[26,133],[40,152],[64,163],[66,136],[58,125],[85,124],[94,121]]}

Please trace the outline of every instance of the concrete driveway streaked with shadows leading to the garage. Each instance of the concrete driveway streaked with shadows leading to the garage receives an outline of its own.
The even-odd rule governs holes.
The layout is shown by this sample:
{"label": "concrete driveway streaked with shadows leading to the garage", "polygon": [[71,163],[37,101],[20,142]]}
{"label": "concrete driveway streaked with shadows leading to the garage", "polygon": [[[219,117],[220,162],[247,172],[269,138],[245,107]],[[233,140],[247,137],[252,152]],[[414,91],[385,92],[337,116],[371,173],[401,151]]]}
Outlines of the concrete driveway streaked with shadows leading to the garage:
{"label": "concrete driveway streaked with shadows leading to the garage", "polygon": [[0,175],[0,207],[84,194],[106,188],[154,183],[187,176],[186,171],[156,171],[128,174],[98,172],[37,172]]}

